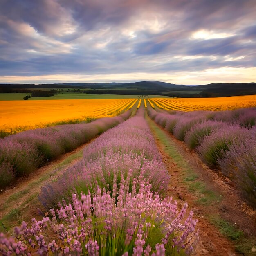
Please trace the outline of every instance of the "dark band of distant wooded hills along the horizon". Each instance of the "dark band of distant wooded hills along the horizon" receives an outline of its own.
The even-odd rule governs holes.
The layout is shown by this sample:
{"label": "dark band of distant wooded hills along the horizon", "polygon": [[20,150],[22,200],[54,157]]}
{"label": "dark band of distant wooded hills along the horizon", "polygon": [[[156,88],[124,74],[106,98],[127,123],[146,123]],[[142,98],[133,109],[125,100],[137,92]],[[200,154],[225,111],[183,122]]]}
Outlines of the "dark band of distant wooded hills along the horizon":
{"label": "dark band of distant wooded hills along the horizon", "polygon": [[207,85],[177,85],[160,81],[132,83],[54,83],[0,84],[0,92],[29,92],[37,88],[91,89],[88,94],[166,95],[173,97],[226,97],[256,94],[256,83],[211,83]]}

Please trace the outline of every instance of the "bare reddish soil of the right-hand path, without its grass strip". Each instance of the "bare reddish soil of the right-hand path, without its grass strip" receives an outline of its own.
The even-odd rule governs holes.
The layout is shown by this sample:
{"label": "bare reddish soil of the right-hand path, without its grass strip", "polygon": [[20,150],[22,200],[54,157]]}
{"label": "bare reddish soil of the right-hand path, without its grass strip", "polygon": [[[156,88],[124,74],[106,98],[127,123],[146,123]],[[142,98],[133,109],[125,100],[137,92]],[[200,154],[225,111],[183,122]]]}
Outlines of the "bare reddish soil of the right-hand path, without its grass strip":
{"label": "bare reddish soil of the right-hand path, without its grass strip", "polygon": [[182,171],[182,168],[177,166],[170,155],[166,153],[163,144],[157,137],[156,132],[152,129],[157,148],[162,154],[163,162],[171,175],[168,195],[174,196],[175,199],[177,199],[180,208],[184,202],[187,202],[189,204],[189,209],[193,210],[195,218],[198,218],[197,227],[200,229],[200,242],[195,255],[240,255],[235,251],[234,243],[223,236],[220,231],[211,222],[209,222],[207,216],[221,216],[221,218],[233,223],[236,227],[243,229],[245,234],[255,236],[255,211],[252,211],[247,207],[247,205],[240,199],[234,188],[230,186],[230,184],[226,183],[227,180],[223,179],[223,177],[219,177],[217,173],[203,164],[195,152],[189,150],[184,143],[175,139],[173,135],[166,132],[157,124],[154,123],[154,125],[165,133],[168,141],[175,144],[184,161],[186,161],[189,164],[189,167],[198,175],[198,180],[204,182],[207,188],[220,193],[222,196],[222,200],[217,204],[198,204],[196,200],[200,195],[189,191],[186,183],[183,182],[184,172]]}

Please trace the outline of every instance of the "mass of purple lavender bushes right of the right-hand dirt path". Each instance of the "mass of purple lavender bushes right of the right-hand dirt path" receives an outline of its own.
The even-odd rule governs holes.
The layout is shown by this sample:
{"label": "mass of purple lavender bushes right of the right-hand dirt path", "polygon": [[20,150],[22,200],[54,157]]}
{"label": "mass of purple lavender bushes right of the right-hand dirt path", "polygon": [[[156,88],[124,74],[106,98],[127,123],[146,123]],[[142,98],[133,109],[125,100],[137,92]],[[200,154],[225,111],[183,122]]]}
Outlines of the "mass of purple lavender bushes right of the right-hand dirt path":
{"label": "mass of purple lavender bushes right of the right-hand dirt path", "polygon": [[212,168],[234,180],[249,204],[256,205],[256,109],[220,112],[157,112],[157,124],[195,149]]}

